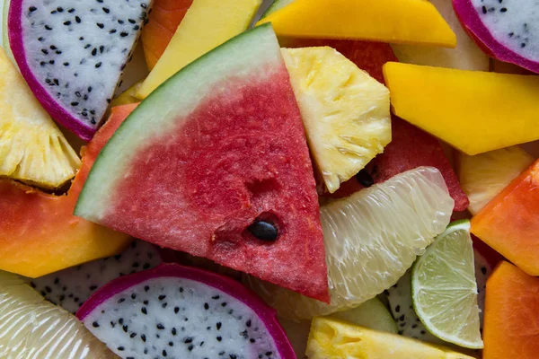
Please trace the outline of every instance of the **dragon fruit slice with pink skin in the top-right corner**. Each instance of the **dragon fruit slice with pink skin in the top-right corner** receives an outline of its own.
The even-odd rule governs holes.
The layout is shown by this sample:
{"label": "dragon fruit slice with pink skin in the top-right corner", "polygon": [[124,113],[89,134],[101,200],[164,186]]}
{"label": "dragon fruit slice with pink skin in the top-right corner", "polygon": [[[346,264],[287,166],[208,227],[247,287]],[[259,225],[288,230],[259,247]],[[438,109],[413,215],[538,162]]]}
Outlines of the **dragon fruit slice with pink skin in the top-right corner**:
{"label": "dragon fruit slice with pink skin in the top-right corner", "polygon": [[464,29],[487,55],[539,73],[535,0],[452,1]]}

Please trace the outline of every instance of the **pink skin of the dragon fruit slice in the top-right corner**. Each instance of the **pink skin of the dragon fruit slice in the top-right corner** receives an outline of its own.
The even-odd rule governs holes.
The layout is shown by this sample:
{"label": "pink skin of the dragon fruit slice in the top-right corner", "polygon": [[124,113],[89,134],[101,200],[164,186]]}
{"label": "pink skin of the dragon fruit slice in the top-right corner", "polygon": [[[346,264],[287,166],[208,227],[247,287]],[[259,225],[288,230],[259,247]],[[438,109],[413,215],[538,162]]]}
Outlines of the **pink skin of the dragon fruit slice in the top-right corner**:
{"label": "pink skin of the dragon fruit slice in the top-right corner", "polygon": [[473,7],[472,0],[452,0],[452,3],[464,30],[470,34],[477,46],[486,55],[539,73],[539,62],[517,54],[494,38],[482,22],[479,13]]}

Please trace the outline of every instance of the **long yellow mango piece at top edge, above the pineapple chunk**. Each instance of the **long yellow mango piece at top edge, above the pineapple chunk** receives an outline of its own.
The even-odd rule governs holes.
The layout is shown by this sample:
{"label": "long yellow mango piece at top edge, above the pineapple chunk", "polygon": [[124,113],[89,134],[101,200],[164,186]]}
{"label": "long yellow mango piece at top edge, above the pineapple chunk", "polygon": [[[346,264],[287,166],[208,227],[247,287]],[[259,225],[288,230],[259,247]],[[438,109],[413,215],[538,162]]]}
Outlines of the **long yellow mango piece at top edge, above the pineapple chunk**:
{"label": "long yellow mango piece at top edge, above the pineapple chunk", "polygon": [[456,46],[455,33],[426,0],[296,0],[259,24],[265,22],[284,37]]}

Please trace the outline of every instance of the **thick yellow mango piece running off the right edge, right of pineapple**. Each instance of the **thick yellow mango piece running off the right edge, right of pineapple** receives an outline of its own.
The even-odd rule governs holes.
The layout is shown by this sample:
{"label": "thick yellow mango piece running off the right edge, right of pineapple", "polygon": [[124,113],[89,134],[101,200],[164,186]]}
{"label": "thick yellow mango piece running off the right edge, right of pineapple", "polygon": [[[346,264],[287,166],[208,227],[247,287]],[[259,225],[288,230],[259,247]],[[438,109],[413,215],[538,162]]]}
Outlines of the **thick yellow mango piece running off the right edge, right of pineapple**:
{"label": "thick yellow mango piece running off the right edge, right of pineapple", "polygon": [[539,139],[539,76],[390,62],[395,115],[466,154]]}

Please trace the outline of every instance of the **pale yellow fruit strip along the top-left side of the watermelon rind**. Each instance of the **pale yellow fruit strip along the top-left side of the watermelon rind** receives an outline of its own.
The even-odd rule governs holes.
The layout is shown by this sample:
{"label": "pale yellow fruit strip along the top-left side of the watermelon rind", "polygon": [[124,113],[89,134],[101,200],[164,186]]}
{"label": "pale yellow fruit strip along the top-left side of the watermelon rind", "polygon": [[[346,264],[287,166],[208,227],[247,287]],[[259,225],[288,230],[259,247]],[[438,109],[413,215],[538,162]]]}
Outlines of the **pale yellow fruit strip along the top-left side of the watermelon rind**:
{"label": "pale yellow fruit strip along the top-left side of the watermelon rind", "polygon": [[137,92],[145,99],[183,67],[247,30],[262,0],[195,0]]}

